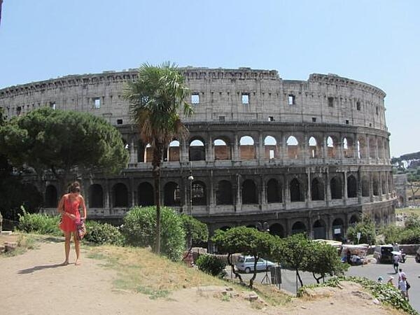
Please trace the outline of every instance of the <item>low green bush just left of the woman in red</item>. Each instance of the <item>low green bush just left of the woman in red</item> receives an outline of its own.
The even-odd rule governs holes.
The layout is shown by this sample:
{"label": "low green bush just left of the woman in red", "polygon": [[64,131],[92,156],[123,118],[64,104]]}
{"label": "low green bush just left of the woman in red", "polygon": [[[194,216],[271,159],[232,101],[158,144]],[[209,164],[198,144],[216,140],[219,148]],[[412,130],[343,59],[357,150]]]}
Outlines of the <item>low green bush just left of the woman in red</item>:
{"label": "low green bush just left of the woman in red", "polygon": [[36,233],[43,235],[62,235],[59,230],[59,216],[47,216],[46,214],[29,214],[25,209],[23,214],[18,214],[19,224],[18,230],[27,233]]}

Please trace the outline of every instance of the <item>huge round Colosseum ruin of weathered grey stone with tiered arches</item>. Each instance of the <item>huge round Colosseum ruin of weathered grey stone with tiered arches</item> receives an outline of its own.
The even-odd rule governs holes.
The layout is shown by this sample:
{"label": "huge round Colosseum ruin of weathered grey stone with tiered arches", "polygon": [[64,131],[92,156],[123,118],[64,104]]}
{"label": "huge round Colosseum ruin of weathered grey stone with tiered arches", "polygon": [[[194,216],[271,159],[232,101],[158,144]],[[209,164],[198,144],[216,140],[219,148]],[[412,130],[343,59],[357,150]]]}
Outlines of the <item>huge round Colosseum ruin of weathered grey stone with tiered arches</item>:
{"label": "huge round Colosseum ruin of weathered grey stone with tiered arches", "polygon": [[[394,221],[386,94],[334,74],[283,80],[277,71],[181,68],[195,114],[186,141],[169,144],[162,204],[207,223],[210,232],[269,225],[281,237],[307,232],[341,239],[363,214]],[[41,106],[85,111],[115,125],[130,151],[119,176],[83,179],[90,218],[116,220],[153,204],[151,149],[139,140],[123,98],[136,69],[72,75],[0,90],[8,118]],[[44,211],[57,206],[50,179]]]}

